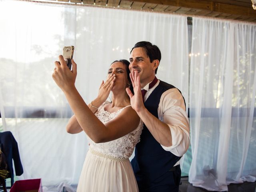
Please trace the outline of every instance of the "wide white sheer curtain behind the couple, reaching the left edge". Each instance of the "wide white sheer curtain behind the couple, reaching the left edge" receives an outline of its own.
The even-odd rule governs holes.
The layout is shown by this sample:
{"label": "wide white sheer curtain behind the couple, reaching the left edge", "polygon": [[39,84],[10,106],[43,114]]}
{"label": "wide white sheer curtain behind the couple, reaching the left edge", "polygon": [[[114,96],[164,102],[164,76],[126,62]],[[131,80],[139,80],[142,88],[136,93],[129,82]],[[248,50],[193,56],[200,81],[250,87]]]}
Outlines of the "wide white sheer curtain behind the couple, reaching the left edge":
{"label": "wide white sheer curtain behind the couple, reaching the left edge", "polygon": [[75,46],[76,86],[90,102],[110,63],[142,40],[159,46],[158,78],[187,100],[185,16],[0,0],[0,112],[20,149],[19,179],[42,178],[44,191],[78,183],[88,143],[83,132],[66,133],[72,112],[51,77],[63,46]]}

